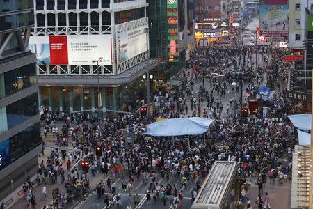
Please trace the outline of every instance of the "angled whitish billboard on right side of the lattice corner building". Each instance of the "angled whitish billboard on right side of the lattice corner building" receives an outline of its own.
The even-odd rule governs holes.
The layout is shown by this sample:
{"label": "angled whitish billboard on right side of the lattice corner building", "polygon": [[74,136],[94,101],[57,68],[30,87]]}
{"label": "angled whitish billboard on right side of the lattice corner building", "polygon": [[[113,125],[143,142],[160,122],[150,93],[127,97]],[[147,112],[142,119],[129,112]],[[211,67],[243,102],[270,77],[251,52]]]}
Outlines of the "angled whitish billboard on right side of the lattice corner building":
{"label": "angled whitish billboard on right side of the lattice corner building", "polygon": [[119,63],[147,51],[147,34],[144,31],[145,28],[149,28],[149,26],[140,26],[136,29],[130,29],[116,34]]}

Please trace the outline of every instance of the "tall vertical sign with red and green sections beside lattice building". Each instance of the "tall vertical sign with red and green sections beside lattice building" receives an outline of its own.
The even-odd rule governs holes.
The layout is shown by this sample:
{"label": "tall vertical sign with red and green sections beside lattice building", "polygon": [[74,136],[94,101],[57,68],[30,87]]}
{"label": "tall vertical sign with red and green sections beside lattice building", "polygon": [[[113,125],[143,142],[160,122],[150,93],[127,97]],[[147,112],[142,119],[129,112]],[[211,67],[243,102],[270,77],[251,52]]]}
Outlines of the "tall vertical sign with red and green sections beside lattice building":
{"label": "tall vertical sign with red and green sections beside lattice building", "polygon": [[178,42],[178,1],[167,1],[168,14],[168,61],[179,61],[179,42]]}

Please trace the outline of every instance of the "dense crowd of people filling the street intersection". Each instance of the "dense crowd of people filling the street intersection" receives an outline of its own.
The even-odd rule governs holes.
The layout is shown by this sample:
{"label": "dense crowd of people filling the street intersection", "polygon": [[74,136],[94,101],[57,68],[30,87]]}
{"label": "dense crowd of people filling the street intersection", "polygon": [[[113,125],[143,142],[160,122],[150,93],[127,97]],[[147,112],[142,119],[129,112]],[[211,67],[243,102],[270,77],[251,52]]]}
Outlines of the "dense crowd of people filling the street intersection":
{"label": "dense crowd of people filling the street intersection", "polygon": [[[46,115],[46,137],[48,132],[52,132],[54,146],[70,147],[72,150],[51,148],[46,162],[40,162],[36,180],[42,185],[43,200],[47,197],[47,183],[54,184],[59,180],[65,184],[62,191],[54,190],[54,204],[45,208],[62,208],[77,191],[78,194],[85,194],[89,190],[88,178],[99,172],[109,176],[106,182],[96,187],[97,199],[103,198],[108,208],[114,204],[113,196],[115,203],[121,204],[116,191],[118,178],[121,178],[122,189],[129,196],[134,191],[134,181],[142,181],[147,187],[147,204],[151,199],[160,199],[164,205],[168,201],[182,208],[184,189],[193,188],[191,195],[194,200],[214,162],[229,158],[238,162],[241,160],[239,175],[258,179],[260,196],[256,201],[261,206],[266,180],[271,179],[271,183],[287,182],[292,166],[291,153],[296,144],[294,128],[287,118],[293,109],[287,100],[285,87],[289,65],[281,62],[285,53],[284,49],[256,49],[241,45],[198,47],[193,50],[188,70],[183,69],[181,73],[184,77],[191,77],[191,85],[186,85],[183,91],[164,88],[152,96],[152,121],[159,117],[182,116],[215,119],[206,137],[192,137],[190,145],[187,137],[155,138],[145,135],[146,119],[136,112],[115,116],[113,121],[78,114],[65,118],[60,130],[54,123],[55,114]],[[258,59],[257,64],[255,59]],[[239,85],[232,86],[239,79],[243,80],[246,95],[257,99],[260,104],[259,111],[243,118],[242,125],[239,99],[232,96],[239,91]],[[264,79],[273,81],[275,96],[271,101],[262,101],[257,91]],[[226,93],[227,90],[230,94]],[[227,98],[229,102],[223,105],[222,98]],[[266,114],[262,112],[262,106],[268,107]],[[41,154],[44,154],[44,140]],[[80,164],[74,168],[81,156],[90,153],[97,144],[103,148],[103,157],[88,157],[89,172],[80,171]],[[283,159],[287,159],[288,163]],[[166,179],[166,185],[157,183],[157,173]],[[35,208],[31,182],[24,187],[29,208]],[[269,197],[265,199],[268,199],[268,205]],[[134,203],[138,206],[138,194],[134,196]]]}

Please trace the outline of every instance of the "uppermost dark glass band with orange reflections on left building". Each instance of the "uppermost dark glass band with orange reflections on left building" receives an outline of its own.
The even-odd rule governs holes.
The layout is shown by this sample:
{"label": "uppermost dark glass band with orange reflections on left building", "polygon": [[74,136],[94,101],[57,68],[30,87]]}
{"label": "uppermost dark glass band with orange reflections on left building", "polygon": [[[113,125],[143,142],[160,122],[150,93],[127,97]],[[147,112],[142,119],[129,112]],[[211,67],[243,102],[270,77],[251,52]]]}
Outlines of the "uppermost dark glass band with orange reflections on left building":
{"label": "uppermost dark glass band with orange reflections on left building", "polygon": [[0,98],[17,93],[24,88],[35,85],[36,83],[35,63],[5,72],[0,75],[0,86],[3,90],[5,89],[5,93],[0,92]]}

